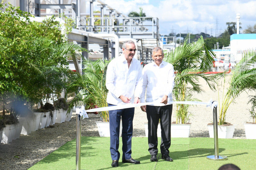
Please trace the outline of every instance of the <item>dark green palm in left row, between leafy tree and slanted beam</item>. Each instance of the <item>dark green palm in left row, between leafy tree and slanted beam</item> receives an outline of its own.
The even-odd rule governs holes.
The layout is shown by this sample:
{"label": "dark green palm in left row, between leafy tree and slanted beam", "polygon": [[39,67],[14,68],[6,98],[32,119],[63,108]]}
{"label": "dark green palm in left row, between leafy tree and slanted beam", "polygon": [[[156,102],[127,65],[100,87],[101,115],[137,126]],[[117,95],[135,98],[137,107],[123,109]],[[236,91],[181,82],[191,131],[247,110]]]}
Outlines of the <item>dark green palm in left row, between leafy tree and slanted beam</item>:
{"label": "dark green palm in left row, between leafy tree and slanted beam", "polygon": [[73,43],[56,44],[48,39],[35,41],[30,60],[38,67],[38,71],[30,75],[29,82],[25,85],[30,93],[37,96],[35,103],[42,103],[46,96],[49,97],[48,94],[61,92],[66,88],[69,79],[74,77],[74,72],[66,68],[67,59],[81,56],[78,52],[82,50],[85,49]]}

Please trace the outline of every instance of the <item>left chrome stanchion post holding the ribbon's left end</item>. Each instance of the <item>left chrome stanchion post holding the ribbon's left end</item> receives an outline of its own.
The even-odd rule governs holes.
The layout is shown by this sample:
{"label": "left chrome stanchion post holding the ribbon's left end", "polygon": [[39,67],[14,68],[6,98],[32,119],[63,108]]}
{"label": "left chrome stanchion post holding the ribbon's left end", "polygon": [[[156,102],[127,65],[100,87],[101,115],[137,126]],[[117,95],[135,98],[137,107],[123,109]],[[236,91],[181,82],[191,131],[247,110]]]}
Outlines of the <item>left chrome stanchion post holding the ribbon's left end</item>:
{"label": "left chrome stanchion post holding the ribbon's left end", "polygon": [[79,107],[76,107],[76,170],[81,169],[81,116]]}

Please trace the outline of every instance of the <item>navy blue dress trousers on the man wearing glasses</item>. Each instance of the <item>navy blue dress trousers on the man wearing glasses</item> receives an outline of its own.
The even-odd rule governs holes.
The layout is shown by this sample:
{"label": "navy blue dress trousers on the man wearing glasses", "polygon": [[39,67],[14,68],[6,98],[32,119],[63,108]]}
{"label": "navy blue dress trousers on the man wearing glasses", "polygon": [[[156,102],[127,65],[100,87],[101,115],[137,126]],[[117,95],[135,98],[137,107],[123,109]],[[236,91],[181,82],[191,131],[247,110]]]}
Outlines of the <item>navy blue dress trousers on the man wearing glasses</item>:
{"label": "navy blue dress trousers on the man wearing glasses", "polygon": [[[108,104],[108,106],[115,106]],[[134,116],[134,107],[110,110],[109,111],[109,129],[110,129],[110,153],[112,160],[119,160],[119,131],[122,117],[122,141],[123,156],[122,160],[132,158],[132,121]]]}

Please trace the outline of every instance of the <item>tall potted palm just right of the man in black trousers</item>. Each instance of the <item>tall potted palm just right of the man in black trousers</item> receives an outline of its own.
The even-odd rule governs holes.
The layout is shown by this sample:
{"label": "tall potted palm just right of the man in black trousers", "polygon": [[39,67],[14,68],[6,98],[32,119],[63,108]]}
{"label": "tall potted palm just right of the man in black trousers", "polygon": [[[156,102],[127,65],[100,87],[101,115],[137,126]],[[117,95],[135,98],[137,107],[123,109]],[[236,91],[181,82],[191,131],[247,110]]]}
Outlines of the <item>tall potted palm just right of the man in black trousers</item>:
{"label": "tall potted palm just right of the man in black trousers", "polygon": [[[204,74],[213,66],[214,53],[204,43],[201,36],[198,41],[188,43],[188,36],[184,45],[179,45],[170,51],[165,61],[171,63],[174,67],[176,77],[173,89],[174,100],[176,101],[200,101],[193,98],[193,93],[204,92],[202,85],[199,84],[199,78],[203,78],[212,90],[215,90],[214,77]],[[176,123],[185,124],[189,117],[188,105],[176,105]]]}

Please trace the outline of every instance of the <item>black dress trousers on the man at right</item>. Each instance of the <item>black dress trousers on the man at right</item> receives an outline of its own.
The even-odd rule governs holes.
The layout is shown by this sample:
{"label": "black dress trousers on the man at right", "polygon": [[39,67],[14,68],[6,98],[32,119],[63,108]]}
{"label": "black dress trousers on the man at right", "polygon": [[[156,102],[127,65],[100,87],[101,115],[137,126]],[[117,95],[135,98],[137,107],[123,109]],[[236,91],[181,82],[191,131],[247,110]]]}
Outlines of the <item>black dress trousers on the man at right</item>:
{"label": "black dress trousers on the man at right", "polygon": [[160,118],[161,126],[161,145],[160,151],[162,155],[169,155],[171,146],[171,117],[172,104],[165,106],[150,106],[146,107],[148,118],[148,151],[150,155],[157,155],[157,126]]}

